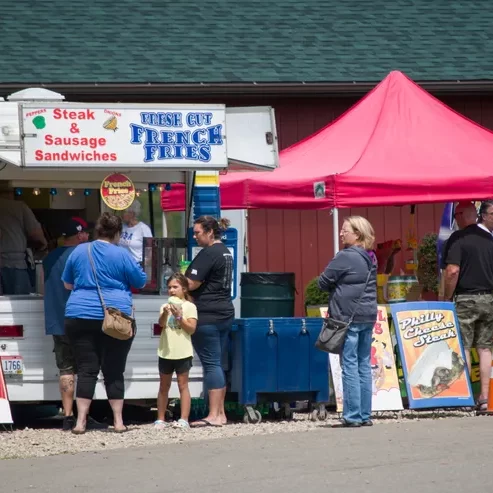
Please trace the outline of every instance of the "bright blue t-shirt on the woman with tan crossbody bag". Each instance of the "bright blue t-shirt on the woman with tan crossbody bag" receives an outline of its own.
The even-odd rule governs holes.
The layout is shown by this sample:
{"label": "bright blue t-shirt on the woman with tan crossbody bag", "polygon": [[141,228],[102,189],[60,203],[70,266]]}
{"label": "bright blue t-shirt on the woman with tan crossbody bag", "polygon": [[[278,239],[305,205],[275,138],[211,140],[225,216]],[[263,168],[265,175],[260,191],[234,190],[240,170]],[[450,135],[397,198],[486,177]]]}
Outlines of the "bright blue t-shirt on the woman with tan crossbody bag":
{"label": "bright blue t-shirt on the woman with tan crossbody bag", "polygon": [[[130,287],[143,288],[146,283],[145,272],[124,248],[97,240],[91,245],[99,287],[106,306],[132,315]],[[88,243],[79,245],[68,258],[63,271],[62,280],[74,286],[67,302],[65,317],[103,320],[103,307],[89,260],[88,247]]]}

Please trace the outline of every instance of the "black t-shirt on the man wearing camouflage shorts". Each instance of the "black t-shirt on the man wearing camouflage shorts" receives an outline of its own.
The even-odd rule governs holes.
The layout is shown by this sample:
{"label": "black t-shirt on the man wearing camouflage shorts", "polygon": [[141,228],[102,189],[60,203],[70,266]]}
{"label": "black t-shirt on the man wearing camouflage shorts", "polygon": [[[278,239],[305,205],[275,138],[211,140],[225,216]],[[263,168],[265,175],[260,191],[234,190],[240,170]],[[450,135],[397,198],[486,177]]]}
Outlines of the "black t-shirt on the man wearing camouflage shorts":
{"label": "black t-shirt on the man wearing camouflage shorts", "polygon": [[[453,240],[453,241],[450,241]],[[445,263],[460,267],[456,294],[493,293],[493,236],[476,224],[449,239]]]}

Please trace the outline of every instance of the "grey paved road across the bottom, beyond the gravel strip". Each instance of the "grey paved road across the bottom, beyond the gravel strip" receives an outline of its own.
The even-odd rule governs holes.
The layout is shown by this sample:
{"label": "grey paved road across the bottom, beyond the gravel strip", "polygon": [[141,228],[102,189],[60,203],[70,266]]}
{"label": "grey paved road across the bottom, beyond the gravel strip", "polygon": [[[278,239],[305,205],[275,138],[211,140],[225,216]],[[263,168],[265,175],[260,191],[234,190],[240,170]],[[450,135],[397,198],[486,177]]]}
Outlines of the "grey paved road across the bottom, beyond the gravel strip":
{"label": "grey paved road across the bottom, beyond the gravel strip", "polygon": [[9,493],[486,491],[493,418],[238,437],[0,461]]}

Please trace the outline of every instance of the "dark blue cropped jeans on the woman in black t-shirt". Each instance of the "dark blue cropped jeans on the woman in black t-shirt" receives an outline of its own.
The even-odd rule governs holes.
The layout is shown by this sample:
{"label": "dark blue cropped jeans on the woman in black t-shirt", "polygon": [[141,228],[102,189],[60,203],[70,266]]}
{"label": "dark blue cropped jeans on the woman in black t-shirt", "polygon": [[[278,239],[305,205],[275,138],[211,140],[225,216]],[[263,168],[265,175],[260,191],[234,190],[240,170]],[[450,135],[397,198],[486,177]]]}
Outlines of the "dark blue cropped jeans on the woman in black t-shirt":
{"label": "dark blue cropped jeans on the woman in black t-shirt", "polygon": [[199,325],[192,343],[204,370],[204,387],[217,390],[226,387],[222,362],[228,350],[228,338],[233,319],[211,325]]}

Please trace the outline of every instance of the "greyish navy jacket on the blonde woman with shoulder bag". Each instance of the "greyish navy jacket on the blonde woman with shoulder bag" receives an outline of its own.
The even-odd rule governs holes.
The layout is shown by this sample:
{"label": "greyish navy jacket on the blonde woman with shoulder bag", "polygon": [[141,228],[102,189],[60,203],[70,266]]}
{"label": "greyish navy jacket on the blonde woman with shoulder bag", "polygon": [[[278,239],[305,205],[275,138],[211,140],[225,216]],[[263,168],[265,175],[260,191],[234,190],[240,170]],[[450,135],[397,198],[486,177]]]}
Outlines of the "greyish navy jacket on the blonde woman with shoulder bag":
{"label": "greyish navy jacket on the blonde woman with shoulder bag", "polygon": [[[365,288],[368,269],[372,272]],[[332,318],[347,322],[354,313],[355,323],[375,323],[377,266],[363,248],[351,246],[341,250],[320,274],[318,287],[329,293],[329,314]]]}

